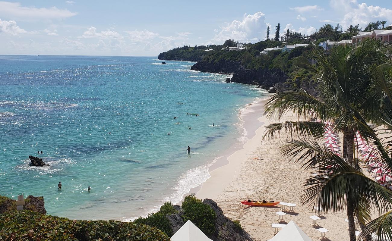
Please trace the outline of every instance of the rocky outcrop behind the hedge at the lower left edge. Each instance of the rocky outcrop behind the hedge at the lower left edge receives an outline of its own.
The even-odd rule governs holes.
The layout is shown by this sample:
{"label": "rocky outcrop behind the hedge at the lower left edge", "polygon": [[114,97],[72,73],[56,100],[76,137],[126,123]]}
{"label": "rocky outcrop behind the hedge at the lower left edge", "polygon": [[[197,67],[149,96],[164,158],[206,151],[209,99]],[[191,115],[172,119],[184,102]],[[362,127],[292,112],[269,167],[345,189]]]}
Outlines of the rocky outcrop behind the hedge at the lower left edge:
{"label": "rocky outcrop behind the hedge at the lower left edge", "polygon": [[[44,197],[28,196],[24,199],[24,210],[32,210],[41,214],[46,214]],[[16,200],[0,196],[0,214],[8,211],[16,210]]]}

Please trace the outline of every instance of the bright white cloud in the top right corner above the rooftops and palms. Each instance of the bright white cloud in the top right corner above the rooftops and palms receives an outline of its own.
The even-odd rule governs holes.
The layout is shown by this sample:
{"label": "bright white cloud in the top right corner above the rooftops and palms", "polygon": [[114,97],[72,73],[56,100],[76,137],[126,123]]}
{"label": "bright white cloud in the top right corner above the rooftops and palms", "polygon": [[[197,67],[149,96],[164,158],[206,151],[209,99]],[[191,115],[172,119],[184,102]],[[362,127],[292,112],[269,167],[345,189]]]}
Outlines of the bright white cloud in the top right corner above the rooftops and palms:
{"label": "bright white cloud in the top right corner above the rooftops and palms", "polygon": [[330,5],[343,14],[341,19],[343,26],[359,24],[360,27],[365,27],[369,22],[377,20],[392,22],[392,9],[385,7],[358,4],[356,0],[330,0]]}

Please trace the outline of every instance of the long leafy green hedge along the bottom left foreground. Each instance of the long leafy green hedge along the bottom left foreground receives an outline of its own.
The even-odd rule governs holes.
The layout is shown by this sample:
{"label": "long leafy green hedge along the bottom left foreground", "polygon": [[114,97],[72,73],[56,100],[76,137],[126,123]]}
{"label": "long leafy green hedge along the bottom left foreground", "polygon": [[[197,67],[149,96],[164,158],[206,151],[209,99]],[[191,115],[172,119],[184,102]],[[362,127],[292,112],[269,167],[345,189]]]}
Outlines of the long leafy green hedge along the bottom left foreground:
{"label": "long leafy green hedge along the bottom left foreground", "polygon": [[120,221],[77,221],[33,211],[0,215],[0,240],[169,241],[162,231]]}

